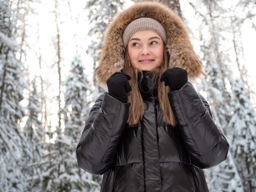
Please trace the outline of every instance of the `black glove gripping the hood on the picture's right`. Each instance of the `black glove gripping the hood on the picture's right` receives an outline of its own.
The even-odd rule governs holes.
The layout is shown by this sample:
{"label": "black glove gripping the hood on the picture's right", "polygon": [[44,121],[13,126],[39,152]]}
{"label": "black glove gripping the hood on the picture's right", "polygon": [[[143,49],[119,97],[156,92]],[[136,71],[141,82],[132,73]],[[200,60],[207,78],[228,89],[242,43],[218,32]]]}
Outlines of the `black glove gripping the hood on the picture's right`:
{"label": "black glove gripping the hood on the picture's right", "polygon": [[185,69],[174,67],[164,71],[160,81],[164,81],[164,85],[168,85],[171,89],[171,92],[173,92],[179,90],[188,81],[188,73]]}

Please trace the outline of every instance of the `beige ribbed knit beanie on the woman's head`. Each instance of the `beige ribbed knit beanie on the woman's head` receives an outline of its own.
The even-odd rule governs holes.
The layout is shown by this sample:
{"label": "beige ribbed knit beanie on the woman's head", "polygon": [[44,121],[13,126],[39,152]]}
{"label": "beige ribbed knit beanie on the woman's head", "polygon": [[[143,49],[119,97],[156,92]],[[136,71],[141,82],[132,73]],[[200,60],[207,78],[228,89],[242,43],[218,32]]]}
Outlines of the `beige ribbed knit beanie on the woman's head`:
{"label": "beige ribbed knit beanie on the woman's head", "polygon": [[143,31],[143,30],[155,31],[162,38],[162,40],[164,41],[164,44],[166,44],[166,33],[164,30],[164,27],[158,21],[151,18],[139,18],[132,21],[124,30],[124,34],[123,34],[124,47],[125,48],[127,47],[130,37],[134,33],[136,33],[137,31]]}

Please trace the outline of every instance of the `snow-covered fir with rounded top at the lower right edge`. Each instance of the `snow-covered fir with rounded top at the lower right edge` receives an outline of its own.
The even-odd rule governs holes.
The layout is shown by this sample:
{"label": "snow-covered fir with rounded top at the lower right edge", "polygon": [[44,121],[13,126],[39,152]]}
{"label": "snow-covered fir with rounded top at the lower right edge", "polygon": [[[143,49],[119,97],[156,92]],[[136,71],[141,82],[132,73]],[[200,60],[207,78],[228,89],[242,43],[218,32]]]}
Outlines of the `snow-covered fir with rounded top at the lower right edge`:
{"label": "snow-covered fir with rounded top at the lower right edge", "polygon": [[256,113],[252,108],[247,90],[239,78],[232,83],[233,128],[231,151],[246,192],[256,191]]}

